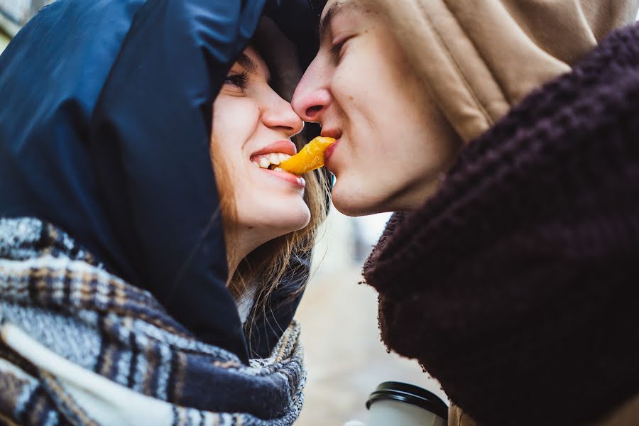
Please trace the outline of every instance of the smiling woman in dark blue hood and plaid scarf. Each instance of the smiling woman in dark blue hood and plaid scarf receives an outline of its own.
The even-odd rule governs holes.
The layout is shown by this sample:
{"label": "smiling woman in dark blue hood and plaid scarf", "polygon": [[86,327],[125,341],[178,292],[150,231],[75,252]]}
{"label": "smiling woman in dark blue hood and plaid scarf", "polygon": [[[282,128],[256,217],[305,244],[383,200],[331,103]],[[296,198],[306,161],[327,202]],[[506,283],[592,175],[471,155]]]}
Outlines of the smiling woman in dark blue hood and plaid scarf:
{"label": "smiling woman in dark blue hood and plaid scarf", "polygon": [[325,195],[253,165],[302,129],[259,4],[57,1],[0,57],[3,423],[295,421]]}

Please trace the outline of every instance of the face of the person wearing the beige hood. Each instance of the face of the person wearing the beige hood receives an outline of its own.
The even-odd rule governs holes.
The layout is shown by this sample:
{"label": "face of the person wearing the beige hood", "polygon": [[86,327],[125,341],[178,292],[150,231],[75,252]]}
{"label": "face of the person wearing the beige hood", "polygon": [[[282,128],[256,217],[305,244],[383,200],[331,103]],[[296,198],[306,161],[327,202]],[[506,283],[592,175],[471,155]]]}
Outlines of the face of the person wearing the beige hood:
{"label": "face of the person wearing the beige hood", "polygon": [[326,165],[345,214],[415,209],[437,189],[461,142],[413,72],[383,16],[359,0],[331,0],[320,51],[293,108],[338,141]]}

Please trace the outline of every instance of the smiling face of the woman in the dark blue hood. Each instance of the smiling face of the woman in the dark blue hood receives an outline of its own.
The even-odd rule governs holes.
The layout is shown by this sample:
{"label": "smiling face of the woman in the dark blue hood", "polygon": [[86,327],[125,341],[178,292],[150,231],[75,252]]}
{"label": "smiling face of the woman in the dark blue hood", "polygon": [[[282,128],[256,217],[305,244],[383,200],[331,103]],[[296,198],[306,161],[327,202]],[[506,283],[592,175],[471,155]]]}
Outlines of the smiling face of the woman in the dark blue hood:
{"label": "smiling face of the woman in the dark blue hood", "polygon": [[213,104],[212,152],[219,155],[216,163],[224,163],[222,190],[229,187],[233,193],[232,225],[240,233],[250,231],[252,241],[242,241],[249,246],[302,229],[310,219],[302,199],[305,182],[269,170],[295,154],[290,137],[303,126],[290,104],[271,88],[270,79],[261,56],[246,48]]}

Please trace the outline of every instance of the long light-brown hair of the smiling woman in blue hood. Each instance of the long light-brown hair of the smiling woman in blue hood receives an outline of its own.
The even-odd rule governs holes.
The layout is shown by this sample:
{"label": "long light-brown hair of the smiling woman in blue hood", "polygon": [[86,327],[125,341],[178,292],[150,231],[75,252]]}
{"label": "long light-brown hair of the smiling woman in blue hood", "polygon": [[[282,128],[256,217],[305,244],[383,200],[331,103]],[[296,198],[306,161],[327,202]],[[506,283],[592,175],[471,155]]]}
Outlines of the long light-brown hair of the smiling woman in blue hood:
{"label": "long light-brown hair of the smiling woman in blue hood", "polygon": [[[280,97],[290,102],[295,86],[302,77],[295,45],[290,43],[290,40],[286,39],[275,23],[268,18],[261,19],[257,33],[249,44],[258,51],[271,71],[271,87]],[[215,124],[213,123],[212,126]],[[292,138],[297,151],[307,142],[303,134],[304,132]],[[232,226],[237,223],[238,215],[234,203],[233,182],[229,178],[222,156],[215,155],[215,145],[215,143],[211,144],[211,155],[219,194],[219,208],[224,223],[227,258],[229,258],[234,255],[234,241],[231,241],[234,234]],[[244,322],[246,332],[252,329],[251,326],[260,313],[271,309],[270,297],[287,272],[291,257],[295,253],[307,253],[312,249],[315,245],[317,229],[326,219],[330,188],[327,175],[323,170],[315,170],[313,173],[307,173],[304,178],[306,180],[304,201],[310,210],[310,222],[299,231],[275,238],[253,250],[239,263],[229,280],[229,292],[236,301],[244,296],[249,288],[256,290],[251,313]],[[296,291],[292,290],[290,297],[295,297],[304,290],[304,287],[305,283]]]}

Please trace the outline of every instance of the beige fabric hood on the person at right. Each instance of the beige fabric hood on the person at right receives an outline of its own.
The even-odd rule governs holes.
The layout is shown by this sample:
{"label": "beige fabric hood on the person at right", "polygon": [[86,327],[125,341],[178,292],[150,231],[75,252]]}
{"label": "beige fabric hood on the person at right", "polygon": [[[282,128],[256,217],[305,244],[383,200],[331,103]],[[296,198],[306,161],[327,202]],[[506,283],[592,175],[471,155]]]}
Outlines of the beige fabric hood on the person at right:
{"label": "beige fabric hood on the person at right", "polygon": [[388,16],[415,70],[464,141],[568,72],[639,0],[365,0]]}

